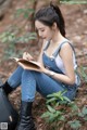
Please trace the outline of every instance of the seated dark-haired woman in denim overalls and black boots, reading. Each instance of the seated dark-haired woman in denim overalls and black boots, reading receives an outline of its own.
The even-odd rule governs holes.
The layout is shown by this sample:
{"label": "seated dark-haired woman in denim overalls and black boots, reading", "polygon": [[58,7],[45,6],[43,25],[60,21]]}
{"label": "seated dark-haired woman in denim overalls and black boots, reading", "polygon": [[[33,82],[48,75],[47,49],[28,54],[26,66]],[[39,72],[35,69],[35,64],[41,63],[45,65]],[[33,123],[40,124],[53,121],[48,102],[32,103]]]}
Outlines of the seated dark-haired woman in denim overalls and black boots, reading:
{"label": "seated dark-haired woman in denim overalls and black boots, reading", "polygon": [[[2,86],[7,95],[20,84],[22,88],[21,114],[16,130],[36,129],[32,118],[36,91],[46,98],[53,92],[66,90],[64,95],[73,100],[78,87],[75,53],[73,46],[65,38],[65,25],[60,9],[53,4],[40,9],[35,14],[35,27],[44,40],[38,60],[44,72],[24,70],[18,66]],[[24,53],[23,58],[33,57]]]}

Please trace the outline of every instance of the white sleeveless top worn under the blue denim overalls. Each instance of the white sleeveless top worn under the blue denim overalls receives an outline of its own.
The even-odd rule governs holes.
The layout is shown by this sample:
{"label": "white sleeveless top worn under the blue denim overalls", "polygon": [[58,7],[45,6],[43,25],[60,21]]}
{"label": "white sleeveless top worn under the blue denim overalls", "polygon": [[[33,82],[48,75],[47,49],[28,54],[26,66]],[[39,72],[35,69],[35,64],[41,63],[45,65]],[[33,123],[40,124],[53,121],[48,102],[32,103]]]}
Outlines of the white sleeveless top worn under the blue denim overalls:
{"label": "white sleeveless top worn under the blue denim overalls", "polygon": [[[51,61],[54,61],[57,67],[59,68],[59,72],[58,72],[58,70],[57,70],[57,72],[65,75],[64,64],[63,64],[63,61],[62,61],[62,58],[61,58],[61,56],[60,56],[60,54],[59,54],[59,52],[60,52],[60,50],[61,50],[61,48],[62,48],[62,46],[63,46],[64,43],[70,43],[71,48],[73,49],[73,64],[74,64],[74,70],[76,70],[76,69],[77,69],[77,61],[76,61],[75,50],[74,50],[73,44],[72,44],[67,39],[65,39],[63,42],[61,42],[61,43],[58,46],[57,50],[52,53],[52,56],[49,57],[49,58],[50,58]],[[46,44],[45,44],[45,48],[44,48],[44,55],[46,55],[46,56],[48,56],[48,55],[46,54],[46,50],[48,49],[49,44],[50,44],[50,41],[47,41]],[[47,63],[46,63],[46,64],[47,64]],[[46,67],[49,67],[49,66],[47,66],[46,64],[45,64],[45,66],[46,66]],[[54,70],[54,68],[51,68],[51,70]],[[54,72],[55,72],[55,70],[54,70]],[[75,83],[76,83],[77,86],[80,84],[80,78],[79,78],[79,76],[78,76],[77,73],[76,73],[76,75],[75,75]]]}

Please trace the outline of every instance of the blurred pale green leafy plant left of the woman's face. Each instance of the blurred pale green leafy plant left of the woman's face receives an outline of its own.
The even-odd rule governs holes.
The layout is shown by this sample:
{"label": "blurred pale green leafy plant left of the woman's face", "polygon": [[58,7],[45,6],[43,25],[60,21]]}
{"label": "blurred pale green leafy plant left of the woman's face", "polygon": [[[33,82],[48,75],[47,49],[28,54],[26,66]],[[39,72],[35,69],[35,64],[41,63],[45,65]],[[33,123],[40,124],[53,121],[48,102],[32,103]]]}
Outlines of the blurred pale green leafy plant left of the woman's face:
{"label": "blurred pale green leafy plant left of the woman's face", "polygon": [[15,32],[4,31],[0,35],[0,40],[2,43],[7,44],[7,50],[4,51],[4,58],[10,56],[22,55],[23,51],[16,53],[16,43],[28,43],[29,40],[36,39],[36,32],[27,32],[24,36],[17,37]]}

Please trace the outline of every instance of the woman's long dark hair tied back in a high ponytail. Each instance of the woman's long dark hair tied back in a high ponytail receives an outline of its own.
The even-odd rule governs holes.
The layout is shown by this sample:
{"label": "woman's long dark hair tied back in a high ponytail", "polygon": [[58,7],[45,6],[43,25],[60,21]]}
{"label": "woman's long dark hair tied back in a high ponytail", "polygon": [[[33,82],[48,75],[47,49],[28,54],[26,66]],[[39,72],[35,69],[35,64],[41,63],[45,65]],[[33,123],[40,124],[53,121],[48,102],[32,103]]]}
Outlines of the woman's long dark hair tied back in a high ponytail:
{"label": "woman's long dark hair tied back in a high ponytail", "polygon": [[35,21],[39,21],[49,27],[51,27],[55,22],[61,35],[65,37],[65,23],[58,5],[50,3],[49,6],[37,11],[34,18]]}

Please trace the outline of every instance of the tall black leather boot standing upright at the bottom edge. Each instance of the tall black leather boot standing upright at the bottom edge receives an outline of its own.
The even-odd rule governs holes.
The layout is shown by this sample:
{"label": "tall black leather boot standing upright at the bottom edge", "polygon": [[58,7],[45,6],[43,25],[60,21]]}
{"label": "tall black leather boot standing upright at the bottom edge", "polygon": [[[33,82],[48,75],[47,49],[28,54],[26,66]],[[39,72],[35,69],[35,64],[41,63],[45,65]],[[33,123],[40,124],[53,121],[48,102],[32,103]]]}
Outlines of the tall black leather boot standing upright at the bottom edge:
{"label": "tall black leather boot standing upright at the bottom edge", "polygon": [[36,130],[32,117],[32,106],[33,102],[22,101],[20,122],[16,127],[16,130]]}

